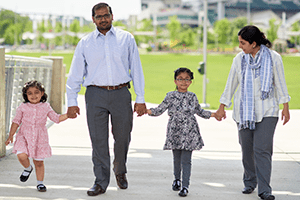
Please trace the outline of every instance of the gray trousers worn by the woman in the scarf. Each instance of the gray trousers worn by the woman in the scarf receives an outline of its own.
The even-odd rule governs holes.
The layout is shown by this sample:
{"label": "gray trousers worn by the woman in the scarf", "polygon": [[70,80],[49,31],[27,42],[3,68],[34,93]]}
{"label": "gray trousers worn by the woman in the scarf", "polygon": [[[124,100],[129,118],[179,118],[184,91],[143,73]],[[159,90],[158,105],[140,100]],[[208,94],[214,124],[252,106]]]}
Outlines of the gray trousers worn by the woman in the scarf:
{"label": "gray trousers worn by the woman in the scarf", "polygon": [[239,131],[242,147],[245,187],[256,188],[258,194],[272,193],[270,186],[273,155],[273,138],[278,117],[265,117],[255,124],[255,130]]}

